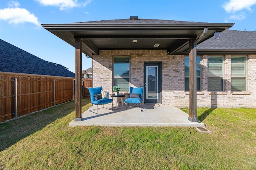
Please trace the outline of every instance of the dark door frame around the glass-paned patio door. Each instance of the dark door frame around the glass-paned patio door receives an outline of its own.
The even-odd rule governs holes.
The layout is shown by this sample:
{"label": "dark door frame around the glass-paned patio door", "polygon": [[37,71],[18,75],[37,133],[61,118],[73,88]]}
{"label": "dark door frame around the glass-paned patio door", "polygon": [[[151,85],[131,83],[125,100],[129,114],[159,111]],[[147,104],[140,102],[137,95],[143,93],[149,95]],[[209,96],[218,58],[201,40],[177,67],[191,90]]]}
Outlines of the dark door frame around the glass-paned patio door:
{"label": "dark door frame around the glass-paned patio door", "polygon": [[[146,66],[158,66],[158,99],[146,99],[146,90],[147,85],[146,81]],[[144,62],[144,103],[158,103],[162,104],[162,62],[156,61],[156,62]]]}

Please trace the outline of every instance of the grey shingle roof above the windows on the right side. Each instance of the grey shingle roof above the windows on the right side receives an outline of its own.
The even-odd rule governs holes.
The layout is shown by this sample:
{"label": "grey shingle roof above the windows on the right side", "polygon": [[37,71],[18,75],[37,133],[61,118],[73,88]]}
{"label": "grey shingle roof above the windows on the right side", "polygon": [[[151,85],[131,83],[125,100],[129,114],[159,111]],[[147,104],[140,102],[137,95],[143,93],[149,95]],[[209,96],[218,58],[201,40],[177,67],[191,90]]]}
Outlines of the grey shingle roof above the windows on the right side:
{"label": "grey shingle roof above the windows on the right side", "polygon": [[226,30],[220,33],[220,39],[210,39],[200,43],[198,49],[255,49],[256,31]]}

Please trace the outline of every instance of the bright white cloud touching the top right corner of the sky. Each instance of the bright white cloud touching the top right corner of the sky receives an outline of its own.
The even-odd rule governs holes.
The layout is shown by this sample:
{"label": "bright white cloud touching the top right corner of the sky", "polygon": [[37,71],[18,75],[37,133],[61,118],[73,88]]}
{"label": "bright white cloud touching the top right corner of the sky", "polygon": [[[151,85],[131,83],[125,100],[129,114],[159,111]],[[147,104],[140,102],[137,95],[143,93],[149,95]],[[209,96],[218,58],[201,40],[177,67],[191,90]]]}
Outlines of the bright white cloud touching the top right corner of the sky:
{"label": "bright white cloud touching the top right corner of the sky", "polygon": [[226,12],[236,12],[243,9],[252,10],[251,6],[256,4],[256,0],[229,0],[228,3],[224,4],[223,8]]}

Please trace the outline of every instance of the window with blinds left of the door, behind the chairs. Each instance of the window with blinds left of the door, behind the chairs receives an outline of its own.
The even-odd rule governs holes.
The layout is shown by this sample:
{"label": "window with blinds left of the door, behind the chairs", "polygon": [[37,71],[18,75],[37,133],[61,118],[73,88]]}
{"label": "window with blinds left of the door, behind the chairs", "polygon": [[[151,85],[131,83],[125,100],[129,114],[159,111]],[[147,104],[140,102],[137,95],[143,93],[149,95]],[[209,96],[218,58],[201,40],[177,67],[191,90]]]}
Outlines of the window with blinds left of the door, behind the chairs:
{"label": "window with blinds left of the door, behind the chairs", "polygon": [[130,87],[130,57],[114,57],[114,85],[120,91],[129,91]]}

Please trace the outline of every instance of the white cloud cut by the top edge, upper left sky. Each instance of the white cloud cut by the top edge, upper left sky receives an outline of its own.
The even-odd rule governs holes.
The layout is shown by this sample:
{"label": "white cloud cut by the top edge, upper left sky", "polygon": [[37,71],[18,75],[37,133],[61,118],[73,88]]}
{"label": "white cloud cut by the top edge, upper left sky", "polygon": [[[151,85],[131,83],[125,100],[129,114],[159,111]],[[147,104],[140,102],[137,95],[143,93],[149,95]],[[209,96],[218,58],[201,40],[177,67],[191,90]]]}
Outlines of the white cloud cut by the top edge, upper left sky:
{"label": "white cloud cut by the top edge, upper left sky", "polygon": [[69,8],[86,6],[91,2],[91,0],[86,0],[85,2],[78,3],[78,0],[36,0],[40,4],[45,6],[58,6],[60,10],[67,10]]}

